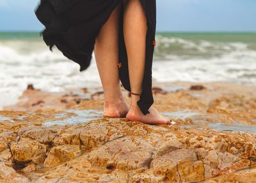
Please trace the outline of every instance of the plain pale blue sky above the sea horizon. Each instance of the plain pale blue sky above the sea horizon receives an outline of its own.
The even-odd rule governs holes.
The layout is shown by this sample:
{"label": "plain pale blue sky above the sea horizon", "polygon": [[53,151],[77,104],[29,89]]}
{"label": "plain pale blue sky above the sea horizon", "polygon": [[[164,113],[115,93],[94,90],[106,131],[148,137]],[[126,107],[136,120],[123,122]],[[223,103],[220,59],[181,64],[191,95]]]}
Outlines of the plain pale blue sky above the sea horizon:
{"label": "plain pale blue sky above the sea horizon", "polygon": [[[44,29],[34,13],[38,3],[39,0],[0,0],[0,31]],[[157,31],[256,32],[256,0],[156,0],[156,3]]]}

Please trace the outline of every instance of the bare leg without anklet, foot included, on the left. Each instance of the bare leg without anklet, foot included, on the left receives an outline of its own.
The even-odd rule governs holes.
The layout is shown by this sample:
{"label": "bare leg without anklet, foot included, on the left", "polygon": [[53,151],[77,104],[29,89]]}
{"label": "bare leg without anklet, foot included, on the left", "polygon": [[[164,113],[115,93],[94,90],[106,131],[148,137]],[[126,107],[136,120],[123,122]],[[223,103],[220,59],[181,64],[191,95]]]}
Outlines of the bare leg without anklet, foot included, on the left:
{"label": "bare leg without anklet, foot included, on the left", "polygon": [[118,22],[120,5],[111,13],[95,40],[94,53],[104,90],[105,117],[125,117],[129,105],[122,96],[118,77]]}

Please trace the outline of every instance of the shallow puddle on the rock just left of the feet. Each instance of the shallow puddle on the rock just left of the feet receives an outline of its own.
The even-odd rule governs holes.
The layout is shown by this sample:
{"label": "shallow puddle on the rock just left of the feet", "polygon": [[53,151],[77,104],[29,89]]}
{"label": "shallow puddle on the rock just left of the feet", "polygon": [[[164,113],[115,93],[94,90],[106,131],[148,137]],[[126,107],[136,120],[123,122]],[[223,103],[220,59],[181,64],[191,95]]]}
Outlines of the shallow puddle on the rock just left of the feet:
{"label": "shallow puddle on the rock just left of the feet", "polygon": [[74,123],[85,123],[91,120],[102,118],[102,111],[99,110],[75,110],[69,109],[67,113],[74,113],[72,116],[68,116],[67,113],[60,113],[55,115],[55,118],[64,118],[63,120],[52,120],[49,122],[42,123],[45,126],[51,125],[67,125]]}

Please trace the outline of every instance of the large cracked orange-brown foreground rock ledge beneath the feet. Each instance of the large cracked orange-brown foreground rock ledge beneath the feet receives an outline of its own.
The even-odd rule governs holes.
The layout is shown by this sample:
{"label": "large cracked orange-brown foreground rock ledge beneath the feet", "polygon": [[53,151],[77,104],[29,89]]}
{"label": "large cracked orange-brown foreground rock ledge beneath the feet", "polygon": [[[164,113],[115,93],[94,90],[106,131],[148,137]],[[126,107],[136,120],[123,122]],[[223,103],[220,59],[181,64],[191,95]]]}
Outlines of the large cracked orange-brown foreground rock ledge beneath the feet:
{"label": "large cracked orange-brown foreground rock ledge beneath the feet", "polygon": [[[145,182],[200,182],[248,168],[256,152],[252,134],[147,125],[118,118],[51,129],[25,127],[18,134],[20,139],[11,143],[15,161],[8,148],[0,157],[25,164],[22,172],[36,182],[111,182],[114,175]],[[40,170],[42,162],[44,168],[53,169]]]}

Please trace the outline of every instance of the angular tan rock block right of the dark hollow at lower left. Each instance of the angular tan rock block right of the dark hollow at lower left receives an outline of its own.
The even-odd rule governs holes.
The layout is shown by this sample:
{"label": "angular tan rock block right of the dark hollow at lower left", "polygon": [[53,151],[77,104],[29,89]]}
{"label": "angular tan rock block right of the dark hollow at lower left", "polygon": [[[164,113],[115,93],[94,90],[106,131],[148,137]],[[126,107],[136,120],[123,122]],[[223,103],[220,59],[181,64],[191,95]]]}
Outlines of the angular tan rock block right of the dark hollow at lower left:
{"label": "angular tan rock block right of the dark hollow at lower left", "polygon": [[53,147],[44,161],[44,166],[58,166],[59,164],[70,161],[79,155],[81,155],[79,145],[60,145],[58,147]]}

